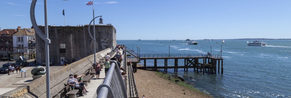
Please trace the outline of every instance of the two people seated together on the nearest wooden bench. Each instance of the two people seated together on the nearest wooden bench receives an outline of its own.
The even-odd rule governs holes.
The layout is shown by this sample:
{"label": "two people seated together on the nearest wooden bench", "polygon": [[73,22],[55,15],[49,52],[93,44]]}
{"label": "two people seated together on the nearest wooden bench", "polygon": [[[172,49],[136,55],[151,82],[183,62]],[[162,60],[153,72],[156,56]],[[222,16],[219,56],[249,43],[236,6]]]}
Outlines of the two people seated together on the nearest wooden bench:
{"label": "two people seated together on the nearest wooden bench", "polygon": [[67,82],[67,85],[71,87],[71,89],[78,89],[79,90],[79,96],[84,96],[83,94],[87,94],[87,89],[85,86],[85,83],[82,81],[82,77],[85,77],[85,74],[82,74],[78,76],[77,74],[70,74],[69,80]]}

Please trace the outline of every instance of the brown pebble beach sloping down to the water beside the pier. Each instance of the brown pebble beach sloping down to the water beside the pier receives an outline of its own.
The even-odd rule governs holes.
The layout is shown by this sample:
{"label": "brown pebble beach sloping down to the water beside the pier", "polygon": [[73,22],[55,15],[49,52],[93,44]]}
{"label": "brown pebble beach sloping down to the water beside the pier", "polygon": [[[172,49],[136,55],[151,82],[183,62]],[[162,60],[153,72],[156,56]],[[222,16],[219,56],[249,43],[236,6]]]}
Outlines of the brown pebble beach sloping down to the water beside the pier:
{"label": "brown pebble beach sloping down to the water beside the pier", "polygon": [[211,98],[203,92],[187,89],[159,77],[155,71],[138,69],[134,78],[140,98],[143,95],[146,98]]}

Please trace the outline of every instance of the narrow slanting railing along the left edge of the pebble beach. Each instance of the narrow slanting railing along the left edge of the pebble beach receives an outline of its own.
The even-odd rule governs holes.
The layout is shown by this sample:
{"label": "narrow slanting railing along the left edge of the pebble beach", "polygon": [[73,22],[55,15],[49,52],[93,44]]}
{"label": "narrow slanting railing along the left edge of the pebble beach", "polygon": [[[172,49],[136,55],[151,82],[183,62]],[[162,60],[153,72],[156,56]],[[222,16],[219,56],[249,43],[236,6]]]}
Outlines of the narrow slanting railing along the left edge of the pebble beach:
{"label": "narrow slanting railing along the left edge of the pebble beach", "polygon": [[135,79],[134,79],[134,74],[132,70],[131,63],[128,65],[128,82],[129,82],[129,92],[130,92],[130,97],[138,98],[138,90],[136,88],[135,84]]}

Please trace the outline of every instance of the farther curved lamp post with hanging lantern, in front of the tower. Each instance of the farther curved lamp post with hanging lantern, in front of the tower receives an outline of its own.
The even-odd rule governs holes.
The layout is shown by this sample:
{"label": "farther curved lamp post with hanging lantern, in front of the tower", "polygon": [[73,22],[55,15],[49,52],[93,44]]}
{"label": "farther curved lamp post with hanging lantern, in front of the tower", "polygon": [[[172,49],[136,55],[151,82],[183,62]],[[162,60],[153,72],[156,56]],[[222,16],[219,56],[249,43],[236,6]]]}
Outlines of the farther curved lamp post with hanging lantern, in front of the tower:
{"label": "farther curved lamp post with hanging lantern, in front of the tower", "polygon": [[[103,19],[102,19],[102,16],[97,16],[97,17],[100,17],[99,19],[99,24],[103,24]],[[95,18],[97,18],[95,17]],[[88,27],[88,32],[89,32],[89,35],[91,37],[92,40],[94,40],[94,63],[93,63],[93,66],[96,66],[96,38],[95,38],[95,22],[94,22],[94,27],[93,27],[93,33],[94,33],[94,37],[91,35],[91,32],[90,32],[90,26],[91,26],[91,23],[92,21],[95,21],[95,18],[93,18],[91,21],[90,21],[90,24],[89,24],[89,27]],[[94,68],[94,67],[93,67]]]}

